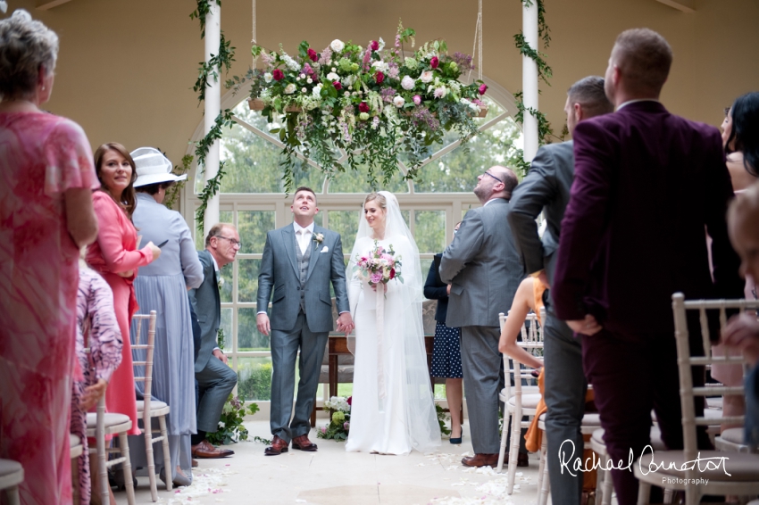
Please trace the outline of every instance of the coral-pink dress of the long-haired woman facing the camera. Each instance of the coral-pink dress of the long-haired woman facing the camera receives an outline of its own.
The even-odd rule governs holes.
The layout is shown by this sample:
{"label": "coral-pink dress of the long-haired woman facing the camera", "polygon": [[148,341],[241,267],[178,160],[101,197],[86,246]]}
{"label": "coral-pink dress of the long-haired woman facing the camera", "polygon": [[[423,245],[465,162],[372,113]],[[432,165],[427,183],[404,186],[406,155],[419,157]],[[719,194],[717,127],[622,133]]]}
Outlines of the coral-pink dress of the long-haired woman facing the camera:
{"label": "coral-pink dress of the long-haired woman facing the camera", "polygon": [[[133,286],[138,267],[153,261],[153,251],[144,247],[137,251],[137,230],[126,212],[110,195],[96,191],[92,203],[97,215],[97,241],[89,246],[87,262],[96,270],[113,291],[113,310],[119,321],[121,335],[129,335],[132,315],[138,310]],[[131,277],[121,277],[119,272],[133,270]],[[129,416],[132,429],[129,435],[139,435],[137,424],[137,401],[135,376],[132,368],[132,352],[129,338],[124,338],[121,348],[121,366],[116,368],[105,390],[105,410]]]}

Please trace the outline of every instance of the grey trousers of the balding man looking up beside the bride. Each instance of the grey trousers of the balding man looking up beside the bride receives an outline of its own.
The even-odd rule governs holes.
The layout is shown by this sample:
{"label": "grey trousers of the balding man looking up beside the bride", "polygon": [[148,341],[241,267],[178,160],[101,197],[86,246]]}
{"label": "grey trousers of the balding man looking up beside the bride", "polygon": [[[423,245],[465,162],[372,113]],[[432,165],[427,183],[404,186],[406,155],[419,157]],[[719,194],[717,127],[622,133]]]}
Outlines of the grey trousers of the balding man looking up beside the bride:
{"label": "grey trousers of the balding man looking up beside the bride", "polygon": [[497,454],[499,375],[498,327],[462,327],[463,386],[469,411],[471,445],[476,454]]}

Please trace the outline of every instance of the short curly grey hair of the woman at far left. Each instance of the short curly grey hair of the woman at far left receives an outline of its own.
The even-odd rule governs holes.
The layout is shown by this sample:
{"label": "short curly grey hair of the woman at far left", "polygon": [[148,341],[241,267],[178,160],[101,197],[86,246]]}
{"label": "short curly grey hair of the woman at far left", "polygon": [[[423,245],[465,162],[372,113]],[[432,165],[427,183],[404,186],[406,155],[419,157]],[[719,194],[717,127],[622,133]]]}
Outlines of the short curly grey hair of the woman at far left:
{"label": "short curly grey hair of the woman at far left", "polygon": [[0,97],[3,101],[34,95],[40,68],[55,70],[58,36],[29,12],[18,9],[0,21]]}

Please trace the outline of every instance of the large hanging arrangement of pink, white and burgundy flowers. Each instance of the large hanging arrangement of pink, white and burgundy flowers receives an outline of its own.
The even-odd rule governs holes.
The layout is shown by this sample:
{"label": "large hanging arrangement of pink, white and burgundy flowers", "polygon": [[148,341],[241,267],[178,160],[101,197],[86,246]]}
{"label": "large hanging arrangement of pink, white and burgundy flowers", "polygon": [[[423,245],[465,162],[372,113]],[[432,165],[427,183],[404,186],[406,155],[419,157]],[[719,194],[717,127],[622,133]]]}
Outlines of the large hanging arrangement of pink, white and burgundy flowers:
{"label": "large hanging arrangement of pink, white and burgundy flowers", "polygon": [[415,178],[428,147],[442,143],[455,130],[463,142],[476,135],[472,117],[487,113],[480,101],[488,87],[477,80],[464,84],[463,72],[473,68],[471,56],[447,54],[446,42],[434,40],[404,56],[404,45],[414,46],[413,29],[398,26],[395,44],[371,40],[366,47],[333,40],[317,52],[308,42],[298,54],[266,52],[254,46],[263,69],[248,72],[240,85],[252,79],[250,106],[262,111],[272,133],[284,144],[281,165],[285,187],[293,190],[297,153],[310,157],[328,175],[347,167],[367,167],[370,183],[378,174],[385,182],[398,170],[405,153],[408,174]]}

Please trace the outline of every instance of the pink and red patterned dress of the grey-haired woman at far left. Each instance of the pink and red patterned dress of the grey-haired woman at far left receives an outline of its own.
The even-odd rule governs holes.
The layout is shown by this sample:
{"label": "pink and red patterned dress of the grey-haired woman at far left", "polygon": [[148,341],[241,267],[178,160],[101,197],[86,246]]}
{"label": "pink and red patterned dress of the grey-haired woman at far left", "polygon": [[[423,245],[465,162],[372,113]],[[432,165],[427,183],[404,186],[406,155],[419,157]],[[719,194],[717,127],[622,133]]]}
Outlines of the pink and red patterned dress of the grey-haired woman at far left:
{"label": "pink and red patterned dress of the grey-haired woman at far left", "polygon": [[24,467],[26,505],[71,503],[79,250],[63,193],[98,186],[79,125],[0,113],[0,458]]}

